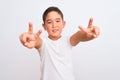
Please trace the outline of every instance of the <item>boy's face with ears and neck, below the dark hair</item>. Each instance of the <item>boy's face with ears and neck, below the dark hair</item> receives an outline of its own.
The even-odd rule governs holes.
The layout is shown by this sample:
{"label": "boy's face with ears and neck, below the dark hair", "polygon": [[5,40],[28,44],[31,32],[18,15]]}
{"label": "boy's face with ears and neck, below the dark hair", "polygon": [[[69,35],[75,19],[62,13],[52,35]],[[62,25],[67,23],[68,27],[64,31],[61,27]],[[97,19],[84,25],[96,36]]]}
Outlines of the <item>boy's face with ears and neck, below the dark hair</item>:
{"label": "boy's face with ears and neck, below the dark hair", "polygon": [[44,29],[48,32],[48,36],[52,40],[57,40],[61,37],[62,29],[65,26],[65,21],[60,14],[55,11],[49,12],[46,16]]}

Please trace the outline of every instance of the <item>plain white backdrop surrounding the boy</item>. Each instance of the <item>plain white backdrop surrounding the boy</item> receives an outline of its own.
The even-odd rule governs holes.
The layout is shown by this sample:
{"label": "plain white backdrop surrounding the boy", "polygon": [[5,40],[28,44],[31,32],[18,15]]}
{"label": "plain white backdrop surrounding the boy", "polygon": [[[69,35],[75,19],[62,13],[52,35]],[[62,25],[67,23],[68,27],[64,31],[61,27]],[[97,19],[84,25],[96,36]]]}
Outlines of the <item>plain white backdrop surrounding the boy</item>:
{"label": "plain white backdrop surrounding the boy", "polygon": [[19,35],[28,31],[28,22],[33,22],[34,32],[43,30],[42,13],[49,6],[57,6],[64,13],[67,22],[64,35],[73,34],[79,25],[87,27],[90,17],[100,27],[99,38],[73,48],[76,80],[120,80],[119,3],[119,0],[0,0],[0,80],[39,80],[38,52],[22,46]]}

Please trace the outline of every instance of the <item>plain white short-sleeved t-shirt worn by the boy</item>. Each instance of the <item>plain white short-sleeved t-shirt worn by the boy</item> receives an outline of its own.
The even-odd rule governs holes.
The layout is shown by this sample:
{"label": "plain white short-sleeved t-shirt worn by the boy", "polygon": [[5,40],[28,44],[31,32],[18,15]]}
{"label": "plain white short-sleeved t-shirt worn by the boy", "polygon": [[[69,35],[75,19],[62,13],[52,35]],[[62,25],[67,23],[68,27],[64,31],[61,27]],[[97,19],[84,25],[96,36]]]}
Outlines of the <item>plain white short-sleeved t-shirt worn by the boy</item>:
{"label": "plain white short-sleeved t-shirt worn by the boy", "polygon": [[70,40],[47,38],[38,49],[41,59],[40,80],[74,80]]}

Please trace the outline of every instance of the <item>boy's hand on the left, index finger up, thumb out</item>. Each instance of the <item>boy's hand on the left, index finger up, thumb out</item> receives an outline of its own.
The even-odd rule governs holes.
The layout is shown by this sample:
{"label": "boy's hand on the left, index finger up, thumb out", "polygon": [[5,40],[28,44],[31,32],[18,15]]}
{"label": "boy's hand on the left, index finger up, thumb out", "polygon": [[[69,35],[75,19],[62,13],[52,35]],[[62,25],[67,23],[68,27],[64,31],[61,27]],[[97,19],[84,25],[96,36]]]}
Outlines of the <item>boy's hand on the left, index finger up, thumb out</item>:
{"label": "boy's hand on the left, index finger up, thumb out", "polygon": [[28,32],[22,33],[19,39],[21,43],[27,48],[38,48],[41,43],[41,39],[39,38],[40,34],[40,30],[37,33],[33,33],[33,25],[32,23],[29,23]]}

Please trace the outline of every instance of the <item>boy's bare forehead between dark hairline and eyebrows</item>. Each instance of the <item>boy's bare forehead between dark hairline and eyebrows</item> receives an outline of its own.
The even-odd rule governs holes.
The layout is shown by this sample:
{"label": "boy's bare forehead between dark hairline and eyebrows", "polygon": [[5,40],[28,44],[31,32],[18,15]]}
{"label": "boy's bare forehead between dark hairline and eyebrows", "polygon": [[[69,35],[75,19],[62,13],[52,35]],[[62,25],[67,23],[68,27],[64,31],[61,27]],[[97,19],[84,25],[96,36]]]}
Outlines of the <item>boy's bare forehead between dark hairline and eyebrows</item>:
{"label": "boy's bare forehead between dark hairline and eyebrows", "polygon": [[61,15],[56,11],[51,11],[47,14],[46,20],[53,20],[53,19],[62,19]]}

